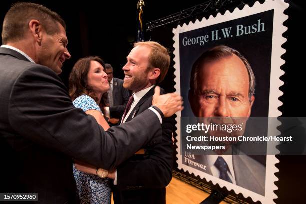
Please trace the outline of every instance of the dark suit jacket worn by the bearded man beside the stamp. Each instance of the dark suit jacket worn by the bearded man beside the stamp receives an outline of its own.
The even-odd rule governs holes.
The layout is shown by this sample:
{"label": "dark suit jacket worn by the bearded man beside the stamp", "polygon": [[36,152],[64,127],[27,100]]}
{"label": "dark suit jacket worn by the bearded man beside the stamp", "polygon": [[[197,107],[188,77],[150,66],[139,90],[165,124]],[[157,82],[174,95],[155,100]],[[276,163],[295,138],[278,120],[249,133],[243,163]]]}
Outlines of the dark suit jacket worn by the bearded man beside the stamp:
{"label": "dark suit jacket worn by the bearded man beside the stamp", "polygon": [[[127,118],[127,123],[134,121],[152,105],[153,94],[154,88],[141,98]],[[145,146],[144,155],[134,155],[117,167],[117,185],[113,191],[115,204],[165,203],[165,186],[172,177],[171,138],[174,125],[174,117],[164,118],[162,133],[157,132],[162,134],[162,142]]]}

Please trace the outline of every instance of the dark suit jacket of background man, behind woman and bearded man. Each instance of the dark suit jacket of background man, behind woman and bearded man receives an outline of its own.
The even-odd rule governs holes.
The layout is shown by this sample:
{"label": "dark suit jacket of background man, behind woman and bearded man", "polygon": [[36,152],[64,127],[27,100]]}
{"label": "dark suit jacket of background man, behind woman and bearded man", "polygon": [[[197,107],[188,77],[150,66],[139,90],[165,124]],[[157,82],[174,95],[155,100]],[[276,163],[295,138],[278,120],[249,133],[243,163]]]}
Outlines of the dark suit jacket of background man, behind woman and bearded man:
{"label": "dark suit jacket of background man, behind woman and bearded man", "polygon": [[129,91],[123,88],[123,80],[113,78],[112,80],[112,97],[113,106],[109,107],[110,118],[121,118],[124,109],[130,97]]}

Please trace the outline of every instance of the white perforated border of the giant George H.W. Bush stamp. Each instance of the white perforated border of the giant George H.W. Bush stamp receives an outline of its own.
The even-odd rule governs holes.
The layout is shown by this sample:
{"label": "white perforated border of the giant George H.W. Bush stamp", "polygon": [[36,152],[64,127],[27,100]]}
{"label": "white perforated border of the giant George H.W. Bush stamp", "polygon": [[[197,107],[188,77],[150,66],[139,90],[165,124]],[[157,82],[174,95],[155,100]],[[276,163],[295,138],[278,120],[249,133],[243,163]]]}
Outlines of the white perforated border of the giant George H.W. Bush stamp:
{"label": "white perforated border of the giant George H.W. Bush stamp", "polygon": [[[271,77],[270,77],[270,97],[269,97],[269,117],[277,117],[282,113],[278,110],[278,107],[282,105],[282,102],[279,101],[279,97],[283,94],[279,90],[279,87],[284,83],[280,80],[280,76],[284,74],[284,71],[280,69],[281,65],[285,63],[281,56],[286,52],[281,46],[286,42],[286,38],[282,34],[287,30],[287,27],[283,25],[283,22],[288,19],[288,16],[284,14],[286,8],[289,7],[288,3],[285,3],[284,0],[266,0],[264,3],[260,4],[258,1],[254,3],[252,7],[245,5],[241,10],[235,8],[233,12],[227,10],[223,15],[218,13],[215,17],[212,15],[209,18],[202,18],[201,20],[196,20],[194,23],[189,22],[188,24],[184,23],[182,26],[178,25],[173,29],[174,33],[174,74],[175,74],[175,85],[176,93],[180,94],[180,53],[179,53],[179,33],[191,31],[194,29],[207,27],[210,25],[215,25],[218,23],[226,22],[229,20],[234,20],[249,15],[257,14],[260,12],[268,11],[274,9],[274,21],[273,21],[273,40],[272,40],[272,55],[271,55]],[[275,40],[277,39],[277,40]],[[272,77],[273,76],[273,77]],[[201,179],[206,179],[207,182],[211,181],[214,185],[219,184],[220,187],[226,187],[228,191],[234,190],[236,194],[242,193],[242,195],[247,198],[251,197],[254,202],[261,201],[262,203],[274,203],[273,199],[276,199],[277,196],[274,193],[277,190],[275,182],[278,181],[278,178],[275,176],[275,173],[278,172],[278,168],[275,166],[279,162],[275,155],[266,156],[266,175],[265,175],[265,196],[259,195],[255,192],[247,190],[243,187],[237,186],[232,183],[228,183],[224,180],[216,178],[212,175],[194,169],[190,166],[182,164],[181,157],[181,143],[180,143],[180,118],[181,112],[177,113],[176,117],[176,128],[177,128],[177,163],[178,169],[182,169],[184,172],[189,174],[194,174],[199,176]],[[275,131],[275,130],[274,130]],[[277,130],[278,132],[278,130]],[[275,148],[275,146],[270,146],[268,148]]]}

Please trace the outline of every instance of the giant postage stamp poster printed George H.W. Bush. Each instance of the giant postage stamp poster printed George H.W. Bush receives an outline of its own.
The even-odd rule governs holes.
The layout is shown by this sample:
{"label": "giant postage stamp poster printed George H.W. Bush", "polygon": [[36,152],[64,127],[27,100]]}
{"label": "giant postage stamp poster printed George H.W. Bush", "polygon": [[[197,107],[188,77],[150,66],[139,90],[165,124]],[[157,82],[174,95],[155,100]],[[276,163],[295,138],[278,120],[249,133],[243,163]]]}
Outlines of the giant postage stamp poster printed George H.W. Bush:
{"label": "giant postage stamp poster printed George H.W. Bush", "polygon": [[[281,105],[278,97],[282,95],[279,87],[283,82],[279,77],[283,74],[280,66],[284,64],[281,55],[285,50],[281,45],[286,40],[282,34],[287,29],[283,26],[283,22],[287,19],[283,12],[287,7],[288,4],[282,0],[266,0],[263,4],[256,2],[252,7],[246,5],[242,10],[236,8],[233,12],[226,11],[223,15],[219,13],[216,17],[210,16],[208,19],[203,18],[201,21],[196,20],[195,23],[190,22],[173,29],[175,88],[184,98],[184,110],[178,113],[177,117],[178,168],[262,203],[273,203],[273,199],[276,198],[273,191],[277,189],[274,184],[277,177],[274,173],[278,171],[275,167],[278,160],[275,155],[224,155],[224,160],[230,163],[226,167],[231,173],[229,176],[222,175],[221,170],[218,171],[213,165],[213,159],[206,158],[206,155],[194,155],[182,151],[181,118],[281,115],[277,108]],[[247,69],[244,70],[245,73],[240,73],[238,68],[235,70],[241,62],[230,61],[229,56],[213,56],[222,59],[219,61],[207,58],[215,50],[221,55],[223,52],[235,53],[241,60],[237,59],[244,63],[242,65]],[[209,68],[206,68],[208,64]],[[201,66],[205,67],[205,71],[201,70]],[[220,66],[229,68],[226,69],[227,72],[222,72],[223,69],[218,71]],[[226,77],[226,74],[231,75]],[[243,74],[248,74],[246,86]],[[255,82],[252,83],[253,79]],[[209,85],[214,85],[217,90],[201,89]],[[250,88],[252,85],[254,87]],[[248,96],[231,91],[239,86],[248,87],[245,90],[248,91]],[[224,94],[233,95],[225,98],[231,103],[220,102],[222,91]],[[204,99],[200,99],[201,97]],[[242,102],[236,103],[240,98]],[[243,106],[243,100],[246,98],[249,99],[247,104],[250,105]],[[207,105],[203,105],[203,103],[213,103],[212,101],[217,99],[219,99],[218,109],[209,109]],[[222,105],[223,109],[220,108]]]}

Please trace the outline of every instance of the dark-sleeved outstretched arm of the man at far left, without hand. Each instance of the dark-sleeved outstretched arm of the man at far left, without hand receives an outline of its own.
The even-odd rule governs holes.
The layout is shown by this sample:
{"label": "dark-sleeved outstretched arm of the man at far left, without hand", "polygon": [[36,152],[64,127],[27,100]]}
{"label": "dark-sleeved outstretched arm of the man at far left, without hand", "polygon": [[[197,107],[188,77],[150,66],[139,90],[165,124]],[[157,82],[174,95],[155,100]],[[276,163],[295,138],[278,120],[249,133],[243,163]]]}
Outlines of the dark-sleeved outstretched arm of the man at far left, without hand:
{"label": "dark-sleeved outstretched arm of the man at far left, without hand", "polygon": [[[105,132],[73,106],[60,78],[39,65],[16,80],[8,114],[11,127],[23,138],[104,169],[119,165],[161,131],[158,117],[147,110],[138,120]],[[143,129],[152,131],[139,137]]]}

